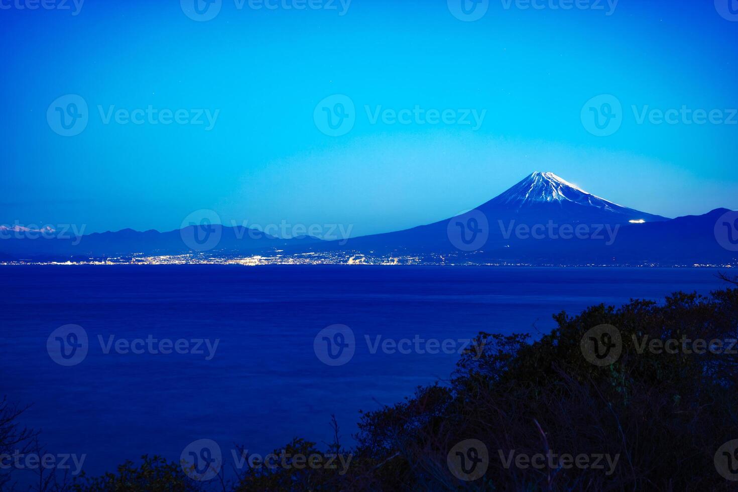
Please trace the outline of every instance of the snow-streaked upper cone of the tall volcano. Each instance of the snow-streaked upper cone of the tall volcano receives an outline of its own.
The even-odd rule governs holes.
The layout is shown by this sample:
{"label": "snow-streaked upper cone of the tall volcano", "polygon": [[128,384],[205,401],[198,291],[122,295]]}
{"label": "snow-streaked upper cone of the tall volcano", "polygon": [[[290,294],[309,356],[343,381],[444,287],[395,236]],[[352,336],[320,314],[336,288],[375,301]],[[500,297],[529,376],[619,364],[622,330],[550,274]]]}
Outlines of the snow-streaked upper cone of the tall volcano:
{"label": "snow-streaked upper cone of the tall volcano", "polygon": [[604,212],[606,213],[604,216],[624,222],[665,220],[660,215],[639,212],[588,193],[554,173],[539,171],[527,176],[496,198],[492,198],[483,207],[523,213],[526,209],[545,211],[549,208],[547,205],[556,206],[557,211],[572,212],[574,217],[579,214],[588,217],[593,215],[593,212]]}

